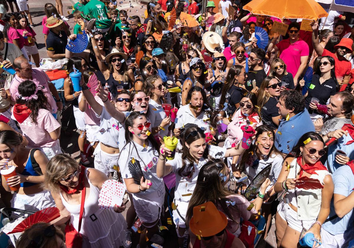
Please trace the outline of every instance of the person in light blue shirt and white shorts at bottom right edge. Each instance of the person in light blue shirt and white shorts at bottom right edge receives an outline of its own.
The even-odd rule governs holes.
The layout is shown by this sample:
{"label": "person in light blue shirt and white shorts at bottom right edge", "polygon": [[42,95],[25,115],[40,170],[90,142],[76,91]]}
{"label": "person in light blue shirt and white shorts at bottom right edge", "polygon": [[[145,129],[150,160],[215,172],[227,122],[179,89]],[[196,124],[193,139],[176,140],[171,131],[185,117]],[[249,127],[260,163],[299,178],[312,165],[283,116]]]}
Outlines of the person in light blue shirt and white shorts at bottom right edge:
{"label": "person in light blue shirt and white shorts at bottom right edge", "polygon": [[[321,247],[348,247],[354,239],[354,163],[339,167],[332,175],[334,192],[329,218],[322,224]],[[352,167],[352,168],[351,168]]]}

